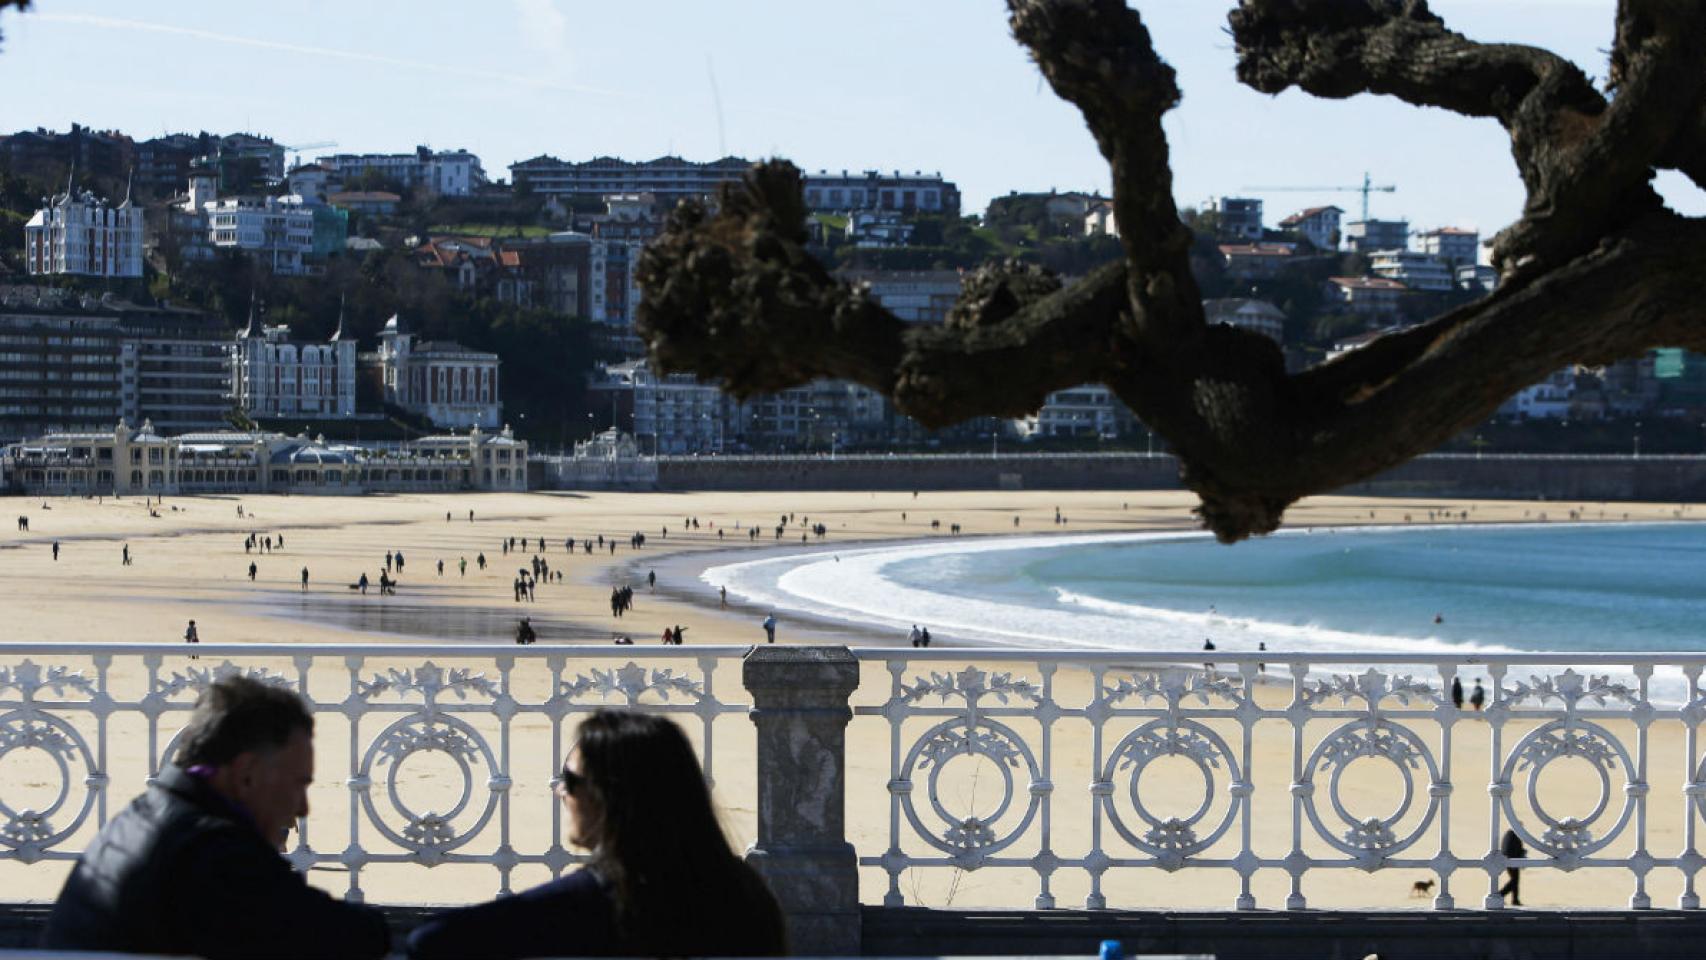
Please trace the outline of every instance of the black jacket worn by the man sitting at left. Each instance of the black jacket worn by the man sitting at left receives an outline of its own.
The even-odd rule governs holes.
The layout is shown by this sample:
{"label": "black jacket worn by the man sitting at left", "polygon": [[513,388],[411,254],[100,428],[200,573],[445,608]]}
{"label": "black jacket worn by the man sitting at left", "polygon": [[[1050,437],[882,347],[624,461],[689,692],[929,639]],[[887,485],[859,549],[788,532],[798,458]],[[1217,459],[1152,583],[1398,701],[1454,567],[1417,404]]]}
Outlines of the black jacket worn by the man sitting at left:
{"label": "black jacket worn by the man sitting at left", "polygon": [[212,960],[367,960],[389,943],[377,911],[309,887],[252,822],[176,766],[77,859],[41,940]]}

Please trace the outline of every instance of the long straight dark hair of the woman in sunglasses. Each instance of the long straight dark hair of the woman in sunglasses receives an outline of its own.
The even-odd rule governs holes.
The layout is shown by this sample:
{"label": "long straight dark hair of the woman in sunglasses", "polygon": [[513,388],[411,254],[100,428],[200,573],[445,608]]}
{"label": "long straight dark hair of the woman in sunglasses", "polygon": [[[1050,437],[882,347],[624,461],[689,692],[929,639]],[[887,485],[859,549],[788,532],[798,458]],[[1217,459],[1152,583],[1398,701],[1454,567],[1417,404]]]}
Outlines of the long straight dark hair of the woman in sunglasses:
{"label": "long straight dark hair of the woman in sunglasses", "polygon": [[778,957],[781,909],[728,847],[699,759],[662,716],[601,709],[580,725],[577,800],[616,928],[653,957]]}

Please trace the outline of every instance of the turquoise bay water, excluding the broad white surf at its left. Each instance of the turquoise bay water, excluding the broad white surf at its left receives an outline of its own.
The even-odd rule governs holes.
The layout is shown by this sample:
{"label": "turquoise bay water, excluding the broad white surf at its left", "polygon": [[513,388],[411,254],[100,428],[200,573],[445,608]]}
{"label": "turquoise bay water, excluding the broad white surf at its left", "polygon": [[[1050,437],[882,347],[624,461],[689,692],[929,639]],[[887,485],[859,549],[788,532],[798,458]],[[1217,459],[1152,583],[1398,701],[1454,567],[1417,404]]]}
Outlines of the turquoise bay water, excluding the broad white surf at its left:
{"label": "turquoise bay water, excluding the broad white surf at its left", "polygon": [[904,558],[880,575],[966,610],[1080,614],[1085,639],[1117,643],[1088,634],[1128,621],[1131,633],[1119,633],[1133,646],[1153,646],[1136,624],[1170,624],[1175,650],[1199,643],[1196,633],[1228,650],[1358,638],[1377,648],[1706,650],[1706,525],[1691,523],[1025,546]]}

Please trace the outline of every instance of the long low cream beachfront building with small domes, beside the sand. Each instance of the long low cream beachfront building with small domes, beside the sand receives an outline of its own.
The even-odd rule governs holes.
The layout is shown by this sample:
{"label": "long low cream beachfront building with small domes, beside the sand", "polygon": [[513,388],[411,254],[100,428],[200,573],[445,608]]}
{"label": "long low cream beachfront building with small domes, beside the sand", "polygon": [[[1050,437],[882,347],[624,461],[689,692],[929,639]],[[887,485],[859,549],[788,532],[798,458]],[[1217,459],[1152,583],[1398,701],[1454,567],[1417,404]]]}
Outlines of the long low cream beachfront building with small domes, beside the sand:
{"label": "long low cream beachfront building with small domes, beside the sand", "polygon": [[527,443],[505,428],[363,447],[324,437],[217,430],[162,437],[154,423],[56,431],[0,450],[0,476],[32,496],[527,489]]}

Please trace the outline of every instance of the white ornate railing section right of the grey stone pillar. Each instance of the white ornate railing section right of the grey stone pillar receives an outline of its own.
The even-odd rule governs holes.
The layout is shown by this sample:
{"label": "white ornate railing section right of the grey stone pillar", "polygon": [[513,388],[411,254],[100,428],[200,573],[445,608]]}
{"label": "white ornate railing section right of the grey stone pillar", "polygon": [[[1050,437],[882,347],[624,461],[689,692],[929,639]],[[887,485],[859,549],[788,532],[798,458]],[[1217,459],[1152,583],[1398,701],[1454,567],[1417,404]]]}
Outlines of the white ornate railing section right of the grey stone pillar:
{"label": "white ornate railing section right of the grey stone pillar", "polygon": [[[1088,878],[1088,909],[1109,905],[1104,882],[1126,868],[1221,871],[1237,878],[1235,909],[1257,905],[1259,871],[1280,871],[1290,880],[1283,905],[1303,909],[1303,883],[1315,871],[1409,868],[1438,880],[1436,909],[1455,905],[1452,882],[1464,871],[1484,875],[1483,904],[1500,909],[1508,827],[1529,851],[1517,866],[1626,871],[1633,909],[1651,905],[1650,875],[1680,875],[1679,905],[1699,907],[1706,656],[855,655],[885,663],[889,674],[885,699],[868,689],[855,696],[853,721],[853,730],[884,723],[889,732],[887,847],[860,849],[862,866],[887,875],[885,905],[906,902],[901,878],[916,868],[1029,871],[1039,909],[1054,905],[1051,885],[1063,871]],[[1675,697],[1650,696],[1655,668]],[[1452,704],[1454,677],[1465,687],[1471,677],[1488,679],[1484,711]],[[1667,726],[1675,747],[1653,755],[1651,735]],[[1256,747],[1264,735],[1266,752]],[[1063,779],[1063,749],[1078,750],[1075,781]],[[1460,757],[1481,752],[1488,767],[1474,772],[1488,771],[1488,779],[1471,788],[1479,798],[1455,798],[1460,807],[1477,800],[1476,810],[1459,812],[1459,822],[1469,813],[1477,830],[1454,839],[1454,793],[1469,784],[1454,783],[1452,771],[1472,776]],[[1170,778],[1145,778],[1163,759],[1194,774],[1181,779],[1175,766]],[[957,796],[947,783],[955,760],[998,771],[996,798]],[[1396,781],[1387,772],[1384,791],[1380,778],[1370,788],[1363,774],[1372,771],[1353,771],[1358,760],[1389,766]],[[1578,762],[1578,774],[1597,786],[1597,801],[1573,815],[1556,810],[1556,791],[1542,788],[1542,774],[1564,760]],[[1648,771],[1660,767],[1680,803],[1668,803],[1674,815],[1655,825]],[[969,781],[960,774],[959,783]],[[1358,789],[1358,803],[1367,807],[1373,791],[1385,801],[1378,810],[1390,812],[1353,813]],[[1152,810],[1146,798],[1162,791],[1174,791],[1177,812]],[[1192,800],[1181,807],[1181,796]],[[1063,813],[1063,805],[1071,808]],[[1259,849],[1256,824],[1290,824],[1290,842]],[[1061,849],[1063,825],[1085,837],[1076,849]],[[1674,849],[1653,849],[1658,834]],[[1610,893],[1600,905],[1616,905]]]}

